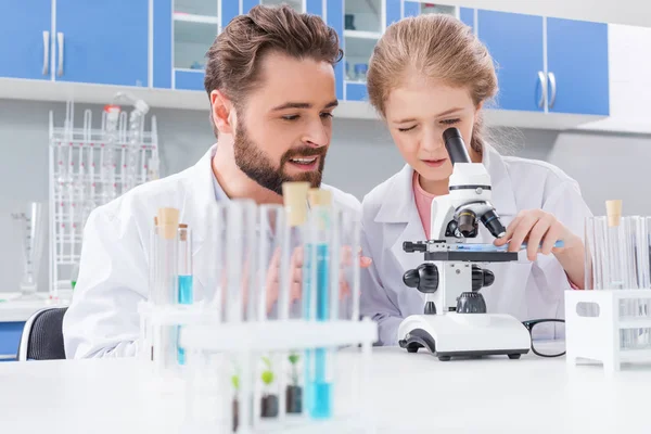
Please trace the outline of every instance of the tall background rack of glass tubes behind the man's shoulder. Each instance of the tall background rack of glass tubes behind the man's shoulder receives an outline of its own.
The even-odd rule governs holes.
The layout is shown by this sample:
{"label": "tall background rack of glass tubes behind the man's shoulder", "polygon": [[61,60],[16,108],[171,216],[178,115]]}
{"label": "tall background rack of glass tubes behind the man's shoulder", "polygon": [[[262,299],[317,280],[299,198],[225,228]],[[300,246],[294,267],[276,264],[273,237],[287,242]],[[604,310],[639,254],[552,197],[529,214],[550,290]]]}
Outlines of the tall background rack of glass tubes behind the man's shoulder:
{"label": "tall background rack of glass tubes behind the man's shoulder", "polygon": [[[59,299],[60,291],[74,288],[84,226],[90,212],[138,184],[158,178],[155,116],[151,116],[151,130],[145,131],[144,114],[132,111],[129,116],[126,110],[118,110],[112,118],[106,110],[102,111],[101,126],[93,125],[92,111],[86,110],[81,128],[75,126],[73,101],[66,103],[62,127],[54,125],[54,114],[50,112],[51,302]],[[111,168],[111,179],[106,177],[106,168]]]}

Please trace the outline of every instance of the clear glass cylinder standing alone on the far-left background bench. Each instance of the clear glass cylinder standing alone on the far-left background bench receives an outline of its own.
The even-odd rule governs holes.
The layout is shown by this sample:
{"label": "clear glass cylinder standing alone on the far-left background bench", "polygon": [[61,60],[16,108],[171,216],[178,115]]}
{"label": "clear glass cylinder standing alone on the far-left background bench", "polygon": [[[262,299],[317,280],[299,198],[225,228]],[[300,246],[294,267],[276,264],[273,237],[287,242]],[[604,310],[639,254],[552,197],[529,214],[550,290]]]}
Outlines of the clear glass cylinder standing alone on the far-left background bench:
{"label": "clear glass cylinder standing alone on the far-left background bench", "polygon": [[40,299],[38,291],[38,275],[43,253],[47,228],[46,204],[29,203],[25,209],[12,215],[21,237],[23,273],[21,277],[21,296],[18,299]]}

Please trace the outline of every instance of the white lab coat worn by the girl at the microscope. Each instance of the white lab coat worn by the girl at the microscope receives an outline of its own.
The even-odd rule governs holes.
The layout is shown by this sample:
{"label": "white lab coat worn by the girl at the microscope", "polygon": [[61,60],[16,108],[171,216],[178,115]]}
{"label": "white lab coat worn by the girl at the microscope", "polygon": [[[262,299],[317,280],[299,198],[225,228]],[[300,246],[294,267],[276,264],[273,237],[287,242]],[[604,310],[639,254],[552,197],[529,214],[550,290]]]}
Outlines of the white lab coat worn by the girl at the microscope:
{"label": "white lab coat worn by the girl at the microscope", "polygon": [[[505,227],[520,210],[541,208],[584,237],[584,220],[591,213],[578,184],[562,170],[538,161],[501,156],[489,145],[483,164]],[[403,318],[422,314],[424,307],[424,295],[403,283],[403,273],[423,261],[422,253],[405,253],[403,242],[425,240],[412,176],[413,169],[406,165],[362,201],[362,251],[373,264],[361,271],[361,314],[378,321],[383,345],[397,345]],[[481,224],[480,228],[473,242],[492,243],[490,233]],[[534,263],[524,255],[519,261],[481,266],[495,273],[493,285],[481,290],[489,312],[510,314],[519,320],[563,317],[563,291],[571,286],[553,255],[539,254]]]}

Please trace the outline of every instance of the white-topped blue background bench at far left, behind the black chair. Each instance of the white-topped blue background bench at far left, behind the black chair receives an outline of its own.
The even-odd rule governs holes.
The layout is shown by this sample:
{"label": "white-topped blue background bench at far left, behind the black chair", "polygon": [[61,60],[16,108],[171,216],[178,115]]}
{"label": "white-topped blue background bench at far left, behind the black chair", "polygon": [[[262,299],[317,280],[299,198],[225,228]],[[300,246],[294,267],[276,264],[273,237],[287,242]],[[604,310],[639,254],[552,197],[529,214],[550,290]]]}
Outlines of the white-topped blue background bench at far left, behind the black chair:
{"label": "white-topped blue background bench at far left, behind the black chair", "polygon": [[17,301],[20,293],[0,293],[0,361],[15,360],[18,343],[25,322],[40,309],[46,307],[64,307],[69,304],[72,294],[60,294],[58,304],[49,299],[49,293],[37,293],[40,299]]}

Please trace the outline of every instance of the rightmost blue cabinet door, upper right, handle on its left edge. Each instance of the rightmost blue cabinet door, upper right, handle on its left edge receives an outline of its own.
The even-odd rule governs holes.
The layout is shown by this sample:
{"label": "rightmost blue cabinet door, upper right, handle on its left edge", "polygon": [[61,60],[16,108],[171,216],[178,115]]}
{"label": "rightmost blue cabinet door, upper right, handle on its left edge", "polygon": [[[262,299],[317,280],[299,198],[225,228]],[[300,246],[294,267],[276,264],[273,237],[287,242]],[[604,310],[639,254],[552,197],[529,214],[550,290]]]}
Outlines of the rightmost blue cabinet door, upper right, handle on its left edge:
{"label": "rightmost blue cabinet door, upper right, handle on its left edge", "polygon": [[547,18],[549,111],[610,114],[608,25]]}

